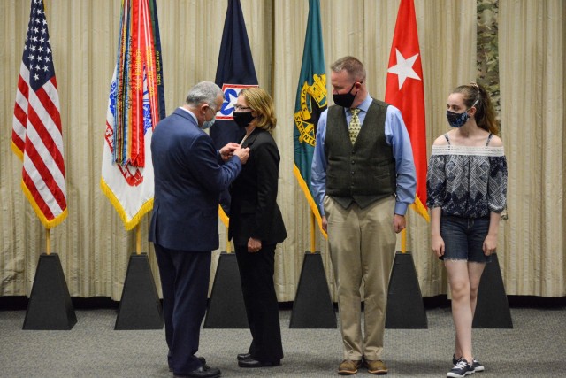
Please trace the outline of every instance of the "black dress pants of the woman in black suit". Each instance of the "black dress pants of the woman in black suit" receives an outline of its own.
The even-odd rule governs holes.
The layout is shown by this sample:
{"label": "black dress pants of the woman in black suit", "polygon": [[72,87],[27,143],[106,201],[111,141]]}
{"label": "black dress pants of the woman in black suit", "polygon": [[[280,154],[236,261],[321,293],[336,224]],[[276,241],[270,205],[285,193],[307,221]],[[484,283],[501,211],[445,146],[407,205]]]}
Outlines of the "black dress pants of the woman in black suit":
{"label": "black dress pants of the woman in black suit", "polygon": [[279,362],[283,358],[279,304],[273,283],[276,244],[262,245],[255,253],[246,245],[236,245],[241,291],[248,315],[252,343],[249,354],[260,361]]}

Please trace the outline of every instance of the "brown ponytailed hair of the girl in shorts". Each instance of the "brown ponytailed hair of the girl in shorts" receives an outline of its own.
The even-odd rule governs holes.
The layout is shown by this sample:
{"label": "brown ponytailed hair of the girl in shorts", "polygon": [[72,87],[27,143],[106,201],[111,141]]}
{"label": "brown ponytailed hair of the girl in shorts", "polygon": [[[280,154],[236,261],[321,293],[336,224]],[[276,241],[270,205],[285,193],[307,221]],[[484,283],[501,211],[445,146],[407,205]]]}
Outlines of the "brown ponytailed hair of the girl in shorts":
{"label": "brown ponytailed hair of the girl in shorts", "polygon": [[456,87],[452,93],[462,94],[463,104],[468,109],[471,107],[476,108],[474,119],[478,127],[495,135],[499,134],[499,124],[495,117],[495,108],[489,93],[487,93],[484,87],[472,81],[468,85]]}

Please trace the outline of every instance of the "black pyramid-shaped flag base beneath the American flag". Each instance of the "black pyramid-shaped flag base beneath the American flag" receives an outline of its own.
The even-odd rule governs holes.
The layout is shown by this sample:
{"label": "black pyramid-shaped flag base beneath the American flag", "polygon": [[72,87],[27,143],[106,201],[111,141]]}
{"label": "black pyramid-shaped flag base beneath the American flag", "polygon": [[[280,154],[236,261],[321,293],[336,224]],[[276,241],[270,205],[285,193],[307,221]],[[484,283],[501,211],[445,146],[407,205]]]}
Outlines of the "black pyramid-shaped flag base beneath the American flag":
{"label": "black pyramid-shaped flag base beneath the American flag", "polygon": [[77,323],[57,253],[42,253],[22,329],[68,330]]}

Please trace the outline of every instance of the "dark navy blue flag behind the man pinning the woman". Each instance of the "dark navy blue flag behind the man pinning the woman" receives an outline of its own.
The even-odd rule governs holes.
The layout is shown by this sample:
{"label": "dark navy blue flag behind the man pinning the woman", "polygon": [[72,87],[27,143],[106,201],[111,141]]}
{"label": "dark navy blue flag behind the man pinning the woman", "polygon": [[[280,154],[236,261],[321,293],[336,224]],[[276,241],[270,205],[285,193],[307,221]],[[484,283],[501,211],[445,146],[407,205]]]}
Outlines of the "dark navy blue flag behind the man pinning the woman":
{"label": "dark navy blue flag behind the man pinning the woman", "polygon": [[[216,122],[210,127],[210,137],[219,150],[226,143],[240,143],[245,130],[233,121],[233,105],[236,104],[241,89],[257,87],[256,67],[249,49],[240,0],[228,0],[215,82],[224,92],[224,104],[216,114]],[[226,214],[230,204],[227,193],[222,194],[220,203],[220,219],[227,227]]]}

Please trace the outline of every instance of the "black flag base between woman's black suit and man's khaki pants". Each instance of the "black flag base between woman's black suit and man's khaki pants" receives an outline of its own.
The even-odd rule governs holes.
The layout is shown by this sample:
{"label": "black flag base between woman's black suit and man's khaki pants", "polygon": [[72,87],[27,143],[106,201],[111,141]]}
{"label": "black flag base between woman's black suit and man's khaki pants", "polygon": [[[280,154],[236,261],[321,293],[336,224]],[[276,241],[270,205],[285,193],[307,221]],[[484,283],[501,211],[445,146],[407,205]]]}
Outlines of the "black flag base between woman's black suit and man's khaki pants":
{"label": "black flag base between woman's black suit and man's khaki pants", "polygon": [[336,327],[336,312],[328,290],[322,256],[320,252],[305,252],[289,328]]}

